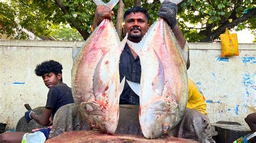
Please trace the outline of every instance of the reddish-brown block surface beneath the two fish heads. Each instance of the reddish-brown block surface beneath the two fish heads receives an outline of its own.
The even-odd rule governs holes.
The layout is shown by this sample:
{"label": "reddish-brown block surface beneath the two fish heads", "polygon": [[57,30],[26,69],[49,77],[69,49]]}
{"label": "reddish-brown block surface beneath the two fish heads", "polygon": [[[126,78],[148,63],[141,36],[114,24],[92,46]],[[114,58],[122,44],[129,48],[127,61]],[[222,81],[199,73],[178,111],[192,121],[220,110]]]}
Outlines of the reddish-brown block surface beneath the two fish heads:
{"label": "reddish-brown block surface beneath the two fish heads", "polygon": [[58,135],[46,142],[196,142],[189,139],[163,136],[158,139],[146,139],[142,135],[103,134],[98,131],[70,131]]}

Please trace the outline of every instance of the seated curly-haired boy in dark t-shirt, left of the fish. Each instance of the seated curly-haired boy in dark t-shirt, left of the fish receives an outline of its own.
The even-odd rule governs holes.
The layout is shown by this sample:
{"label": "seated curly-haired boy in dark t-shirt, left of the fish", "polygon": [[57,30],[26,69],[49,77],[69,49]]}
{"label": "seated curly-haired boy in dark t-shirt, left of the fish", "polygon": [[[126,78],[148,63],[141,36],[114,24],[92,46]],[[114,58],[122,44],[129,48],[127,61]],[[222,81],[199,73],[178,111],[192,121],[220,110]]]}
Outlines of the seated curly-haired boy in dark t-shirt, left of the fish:
{"label": "seated curly-haired boy in dark t-shirt, left of the fish", "polygon": [[[71,88],[62,81],[62,65],[53,60],[44,61],[37,65],[35,73],[42,76],[44,84],[49,88],[45,109],[41,115],[36,115],[32,110],[25,112],[26,120],[34,119],[38,124],[50,126],[52,118],[56,111],[63,105],[74,103]],[[44,133],[48,139],[51,128],[42,128],[40,131]],[[6,132],[0,134],[0,142],[21,142],[25,132]]]}

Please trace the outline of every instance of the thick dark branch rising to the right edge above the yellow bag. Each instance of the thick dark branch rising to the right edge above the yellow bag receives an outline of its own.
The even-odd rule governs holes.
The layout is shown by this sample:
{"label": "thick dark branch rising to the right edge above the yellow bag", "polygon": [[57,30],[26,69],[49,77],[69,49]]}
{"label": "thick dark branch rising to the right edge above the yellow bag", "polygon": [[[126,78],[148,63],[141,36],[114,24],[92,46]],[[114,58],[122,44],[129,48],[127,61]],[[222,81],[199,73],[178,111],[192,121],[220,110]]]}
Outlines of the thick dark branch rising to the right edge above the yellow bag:
{"label": "thick dark branch rising to the right edge above the yellow bag", "polygon": [[246,20],[250,19],[255,15],[256,15],[256,8],[253,8],[246,15],[243,15],[237,19],[234,19],[231,23],[229,23],[228,20],[226,20],[226,22],[223,25],[219,26],[219,28],[214,30],[211,34],[208,34],[207,37],[204,38],[203,40],[200,40],[200,42],[212,42],[220,34],[224,33],[227,27],[235,27],[239,23],[245,22]]}

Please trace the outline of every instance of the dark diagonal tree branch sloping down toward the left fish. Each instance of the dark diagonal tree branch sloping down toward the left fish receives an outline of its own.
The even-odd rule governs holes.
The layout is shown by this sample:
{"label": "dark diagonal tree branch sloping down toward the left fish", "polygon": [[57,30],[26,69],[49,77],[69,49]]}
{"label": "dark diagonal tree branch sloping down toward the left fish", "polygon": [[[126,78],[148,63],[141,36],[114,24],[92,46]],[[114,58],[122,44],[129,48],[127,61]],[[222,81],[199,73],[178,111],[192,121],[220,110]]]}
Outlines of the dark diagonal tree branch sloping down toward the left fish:
{"label": "dark diagonal tree branch sloping down toward the left fish", "polygon": [[[66,14],[69,14],[69,9],[67,7],[65,7],[63,5],[63,2],[62,0],[55,0],[56,4],[59,6],[59,8],[63,11],[63,13],[66,15]],[[71,19],[71,24],[72,26],[74,26],[77,31],[83,36],[84,40],[86,40],[88,37],[89,37],[89,33],[85,30],[82,30],[82,28],[79,27],[79,25],[83,25],[83,24],[78,24],[75,20],[75,18],[72,18]]]}

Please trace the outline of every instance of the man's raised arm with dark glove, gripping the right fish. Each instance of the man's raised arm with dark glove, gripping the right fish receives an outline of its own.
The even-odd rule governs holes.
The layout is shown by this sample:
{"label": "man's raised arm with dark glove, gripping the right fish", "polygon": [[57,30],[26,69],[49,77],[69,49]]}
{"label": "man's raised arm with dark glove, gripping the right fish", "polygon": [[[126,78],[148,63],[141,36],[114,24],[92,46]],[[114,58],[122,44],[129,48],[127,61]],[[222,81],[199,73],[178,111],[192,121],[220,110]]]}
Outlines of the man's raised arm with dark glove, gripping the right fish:
{"label": "man's raised arm with dark glove, gripping the right fish", "polygon": [[[172,2],[164,1],[161,3],[159,12],[157,13],[159,17],[163,18],[167,24],[172,28],[172,32],[174,33],[178,44],[180,45],[181,49],[184,49],[185,46],[187,46],[187,42],[179,28],[179,25],[177,24],[177,5]],[[188,47],[188,46],[187,46]],[[189,57],[189,50],[187,55],[187,69],[190,67],[190,57]]]}

